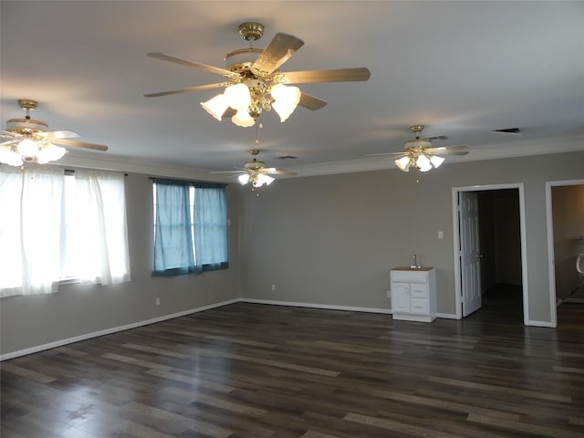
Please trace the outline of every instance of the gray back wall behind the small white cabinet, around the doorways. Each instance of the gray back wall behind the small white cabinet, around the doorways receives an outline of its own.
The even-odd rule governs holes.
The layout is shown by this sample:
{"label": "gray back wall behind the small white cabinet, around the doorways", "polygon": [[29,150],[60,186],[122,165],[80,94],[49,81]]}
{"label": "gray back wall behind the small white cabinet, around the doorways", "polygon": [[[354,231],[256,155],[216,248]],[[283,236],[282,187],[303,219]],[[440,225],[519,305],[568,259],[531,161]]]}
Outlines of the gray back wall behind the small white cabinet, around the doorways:
{"label": "gray back wall behind the small white cabinet, around the doorways", "polygon": [[242,297],[389,308],[389,270],[416,253],[437,268],[437,311],[454,315],[453,187],[524,183],[529,317],[549,322],[545,182],[584,177],[582,163],[577,151],[446,162],[428,173],[287,179],[259,196],[242,191]]}

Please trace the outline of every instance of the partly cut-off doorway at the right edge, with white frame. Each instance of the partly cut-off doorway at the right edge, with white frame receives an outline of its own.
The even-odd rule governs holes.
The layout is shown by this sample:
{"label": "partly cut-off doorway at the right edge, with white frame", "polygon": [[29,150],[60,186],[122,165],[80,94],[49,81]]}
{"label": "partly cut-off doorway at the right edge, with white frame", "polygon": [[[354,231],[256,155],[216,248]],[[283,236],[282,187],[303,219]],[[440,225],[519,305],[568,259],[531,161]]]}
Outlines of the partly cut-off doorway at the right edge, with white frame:
{"label": "partly cut-off doorway at the right edge, with white frame", "polygon": [[546,183],[547,259],[552,327],[558,325],[557,305],[578,287],[575,260],[584,253],[584,180]]}

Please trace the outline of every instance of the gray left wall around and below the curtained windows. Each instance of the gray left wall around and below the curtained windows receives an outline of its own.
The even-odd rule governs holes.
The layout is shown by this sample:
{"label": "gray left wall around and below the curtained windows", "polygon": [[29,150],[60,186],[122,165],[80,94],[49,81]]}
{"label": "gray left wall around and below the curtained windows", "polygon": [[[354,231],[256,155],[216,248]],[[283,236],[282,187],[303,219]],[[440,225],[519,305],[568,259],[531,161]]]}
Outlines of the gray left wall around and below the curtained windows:
{"label": "gray left wall around and below the curtained windows", "polygon": [[[126,177],[131,281],[111,287],[67,285],[56,294],[0,301],[2,354],[35,348],[239,297],[236,191],[227,188],[230,267],[202,275],[152,277],[152,182]],[[160,307],[155,298],[161,298]]]}

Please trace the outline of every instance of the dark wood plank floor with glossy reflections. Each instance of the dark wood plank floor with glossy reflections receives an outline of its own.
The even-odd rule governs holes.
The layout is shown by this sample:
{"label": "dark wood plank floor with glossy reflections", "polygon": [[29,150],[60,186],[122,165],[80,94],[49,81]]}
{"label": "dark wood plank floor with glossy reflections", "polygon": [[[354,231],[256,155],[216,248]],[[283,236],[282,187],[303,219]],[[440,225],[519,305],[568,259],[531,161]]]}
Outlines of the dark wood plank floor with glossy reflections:
{"label": "dark wood plank floor with glossy reflections", "polygon": [[235,304],[2,367],[2,437],[584,436],[584,305],[432,324]]}

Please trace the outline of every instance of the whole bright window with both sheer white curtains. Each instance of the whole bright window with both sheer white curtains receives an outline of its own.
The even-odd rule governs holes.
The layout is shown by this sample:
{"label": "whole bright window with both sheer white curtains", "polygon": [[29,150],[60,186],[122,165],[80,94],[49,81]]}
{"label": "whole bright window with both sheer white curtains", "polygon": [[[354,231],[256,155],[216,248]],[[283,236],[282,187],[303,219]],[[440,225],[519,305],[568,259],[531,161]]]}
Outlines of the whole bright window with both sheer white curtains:
{"label": "whole bright window with both sheer white curtains", "polygon": [[0,167],[0,296],[130,280],[124,176]]}

